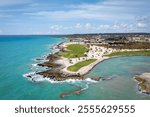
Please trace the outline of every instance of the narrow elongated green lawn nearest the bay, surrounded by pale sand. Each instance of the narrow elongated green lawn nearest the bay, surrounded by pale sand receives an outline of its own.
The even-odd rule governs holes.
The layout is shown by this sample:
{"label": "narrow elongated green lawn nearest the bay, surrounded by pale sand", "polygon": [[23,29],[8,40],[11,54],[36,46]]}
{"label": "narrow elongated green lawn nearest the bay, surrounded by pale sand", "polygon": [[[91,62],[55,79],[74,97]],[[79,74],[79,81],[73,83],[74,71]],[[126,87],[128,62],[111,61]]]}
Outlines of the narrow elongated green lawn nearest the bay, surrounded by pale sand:
{"label": "narrow elongated green lawn nearest the bay, surrounded by pale sand", "polygon": [[89,65],[89,64],[91,64],[91,63],[93,63],[93,62],[95,62],[95,61],[96,61],[96,59],[89,59],[89,60],[86,60],[86,61],[82,61],[82,62],[79,62],[79,63],[77,63],[77,64],[75,64],[75,65],[72,65],[72,66],[68,67],[68,70],[69,70],[69,71],[76,72],[76,71],[78,71],[80,68],[82,68],[82,67],[84,67],[84,66],[87,66],[87,65]]}

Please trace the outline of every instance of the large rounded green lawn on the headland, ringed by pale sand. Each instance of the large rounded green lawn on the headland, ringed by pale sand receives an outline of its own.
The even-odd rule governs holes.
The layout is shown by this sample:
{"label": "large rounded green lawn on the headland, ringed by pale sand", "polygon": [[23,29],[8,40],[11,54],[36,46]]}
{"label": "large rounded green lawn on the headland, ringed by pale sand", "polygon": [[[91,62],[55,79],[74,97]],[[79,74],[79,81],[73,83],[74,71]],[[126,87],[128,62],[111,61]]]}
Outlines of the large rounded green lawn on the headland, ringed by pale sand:
{"label": "large rounded green lawn on the headland, ringed by pale sand", "polygon": [[71,44],[67,46],[67,50],[68,51],[60,52],[60,55],[65,58],[78,58],[84,57],[84,53],[88,51],[88,48],[81,44]]}

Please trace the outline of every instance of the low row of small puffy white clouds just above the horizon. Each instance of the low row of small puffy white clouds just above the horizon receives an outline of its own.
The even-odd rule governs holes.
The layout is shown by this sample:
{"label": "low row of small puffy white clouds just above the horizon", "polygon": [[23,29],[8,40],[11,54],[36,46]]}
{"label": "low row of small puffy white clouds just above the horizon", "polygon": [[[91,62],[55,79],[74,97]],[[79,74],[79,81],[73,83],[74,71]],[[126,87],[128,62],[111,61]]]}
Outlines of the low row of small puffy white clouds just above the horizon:
{"label": "low row of small puffy white clouds just above the horizon", "polygon": [[51,25],[50,32],[53,34],[59,34],[64,32],[73,33],[74,30],[77,33],[86,33],[86,32],[138,32],[143,29],[146,30],[146,24],[144,23],[114,23],[114,24],[92,24],[92,23],[77,23],[72,26],[64,26],[64,25]]}

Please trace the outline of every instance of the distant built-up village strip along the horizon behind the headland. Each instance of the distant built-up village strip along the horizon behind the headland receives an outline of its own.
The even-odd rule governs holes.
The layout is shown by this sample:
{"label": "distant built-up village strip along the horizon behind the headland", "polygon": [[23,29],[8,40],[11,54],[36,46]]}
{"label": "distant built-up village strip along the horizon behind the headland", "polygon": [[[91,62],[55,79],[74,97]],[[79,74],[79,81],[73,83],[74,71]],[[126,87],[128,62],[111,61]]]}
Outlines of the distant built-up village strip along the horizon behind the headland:
{"label": "distant built-up village strip along the horizon behind the headland", "polygon": [[131,43],[150,43],[149,33],[106,33],[106,34],[85,34],[85,35],[68,35],[70,40],[79,40],[84,43],[96,44],[96,45],[124,45]]}

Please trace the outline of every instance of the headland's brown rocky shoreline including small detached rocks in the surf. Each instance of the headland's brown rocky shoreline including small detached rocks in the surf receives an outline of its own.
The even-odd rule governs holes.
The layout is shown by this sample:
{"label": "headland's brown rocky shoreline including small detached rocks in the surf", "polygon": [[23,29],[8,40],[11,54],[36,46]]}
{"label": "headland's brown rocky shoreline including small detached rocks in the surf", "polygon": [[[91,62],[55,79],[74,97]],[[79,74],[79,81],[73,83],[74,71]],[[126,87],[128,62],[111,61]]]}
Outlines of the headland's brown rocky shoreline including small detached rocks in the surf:
{"label": "headland's brown rocky shoreline including small detached rocks in the surf", "polygon": [[[62,43],[58,44],[56,46],[57,49],[60,51],[63,51],[63,48],[60,46]],[[69,74],[66,72],[63,72],[62,69],[64,68],[64,65],[61,63],[56,62],[57,60],[60,60],[61,57],[59,56],[59,52],[56,52],[54,54],[49,54],[46,57],[46,61],[43,63],[38,63],[38,66],[41,67],[47,67],[48,70],[37,72],[37,75],[43,76],[43,78],[48,78],[53,81],[65,81],[68,79],[77,79],[77,80],[84,80],[84,75],[80,74]],[[28,78],[32,78],[32,76],[28,75]],[[100,78],[91,78],[92,80],[99,81]]]}

